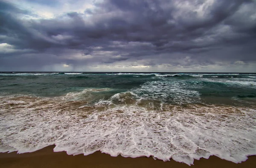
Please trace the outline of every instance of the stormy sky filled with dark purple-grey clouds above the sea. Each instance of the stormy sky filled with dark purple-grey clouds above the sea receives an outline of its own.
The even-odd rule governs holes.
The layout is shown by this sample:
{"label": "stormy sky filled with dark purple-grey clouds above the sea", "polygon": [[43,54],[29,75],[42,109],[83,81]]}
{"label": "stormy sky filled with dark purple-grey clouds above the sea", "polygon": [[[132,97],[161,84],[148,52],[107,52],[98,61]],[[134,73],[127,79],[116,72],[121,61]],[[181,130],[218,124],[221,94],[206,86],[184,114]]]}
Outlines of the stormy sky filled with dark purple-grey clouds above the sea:
{"label": "stormy sky filled with dark purple-grey clouds above the sea", "polygon": [[0,71],[256,72],[256,0],[0,0]]}

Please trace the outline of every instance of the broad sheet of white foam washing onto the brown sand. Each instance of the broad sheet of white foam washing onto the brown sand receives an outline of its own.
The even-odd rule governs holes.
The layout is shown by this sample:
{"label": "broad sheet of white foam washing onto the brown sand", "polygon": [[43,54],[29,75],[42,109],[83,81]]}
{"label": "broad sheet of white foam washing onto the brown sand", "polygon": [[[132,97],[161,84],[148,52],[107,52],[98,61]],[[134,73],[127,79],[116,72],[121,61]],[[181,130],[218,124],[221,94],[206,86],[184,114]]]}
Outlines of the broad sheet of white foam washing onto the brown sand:
{"label": "broad sheet of white foam washing onto the brown sand", "polygon": [[210,155],[238,163],[256,154],[255,108],[164,103],[163,110],[155,111],[103,103],[90,111],[72,109],[70,104],[60,110],[63,101],[30,98],[11,107],[8,104],[15,100],[0,99],[0,152],[56,145],[54,151],[67,154],[102,151],[111,156],[172,158],[188,165]]}

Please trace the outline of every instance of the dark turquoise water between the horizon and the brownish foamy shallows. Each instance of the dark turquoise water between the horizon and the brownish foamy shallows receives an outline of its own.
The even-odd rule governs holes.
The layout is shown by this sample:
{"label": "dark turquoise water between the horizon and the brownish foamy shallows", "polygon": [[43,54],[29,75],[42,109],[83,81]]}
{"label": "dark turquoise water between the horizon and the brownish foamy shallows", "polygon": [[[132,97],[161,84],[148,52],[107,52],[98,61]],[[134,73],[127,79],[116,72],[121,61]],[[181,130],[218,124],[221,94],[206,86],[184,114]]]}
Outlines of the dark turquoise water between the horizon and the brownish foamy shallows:
{"label": "dark turquoise water between the horizon and the brownish foamy shallows", "polygon": [[248,105],[246,101],[256,100],[256,74],[0,73],[0,81],[0,94],[5,95],[55,97],[86,88],[109,88],[98,99],[135,91],[141,97],[170,104]]}

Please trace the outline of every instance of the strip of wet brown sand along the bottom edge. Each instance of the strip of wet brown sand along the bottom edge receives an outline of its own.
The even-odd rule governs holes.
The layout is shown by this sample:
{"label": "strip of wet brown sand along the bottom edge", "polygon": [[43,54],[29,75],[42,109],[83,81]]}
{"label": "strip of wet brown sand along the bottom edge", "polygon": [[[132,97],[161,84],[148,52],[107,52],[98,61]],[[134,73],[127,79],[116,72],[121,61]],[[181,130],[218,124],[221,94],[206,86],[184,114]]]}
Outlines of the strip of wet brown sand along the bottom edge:
{"label": "strip of wet brown sand along the bottom edge", "polygon": [[190,167],[174,160],[163,162],[152,157],[111,157],[99,151],[88,156],[73,156],[66,152],[53,152],[53,148],[54,145],[25,154],[0,153],[0,168],[256,168],[256,156],[239,164],[211,156],[195,160]]}

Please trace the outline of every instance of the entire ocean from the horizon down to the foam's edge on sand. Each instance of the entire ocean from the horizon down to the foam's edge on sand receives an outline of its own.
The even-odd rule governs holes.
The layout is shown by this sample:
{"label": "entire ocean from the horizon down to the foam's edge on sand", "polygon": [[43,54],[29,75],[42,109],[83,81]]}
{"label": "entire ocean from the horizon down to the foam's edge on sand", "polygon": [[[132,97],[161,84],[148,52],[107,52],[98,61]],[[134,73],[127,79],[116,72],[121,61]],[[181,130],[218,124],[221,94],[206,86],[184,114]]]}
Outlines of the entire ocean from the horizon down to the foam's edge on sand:
{"label": "entire ocean from the horizon down to the foam's edge on sand", "polygon": [[0,72],[0,152],[256,155],[256,74]]}

